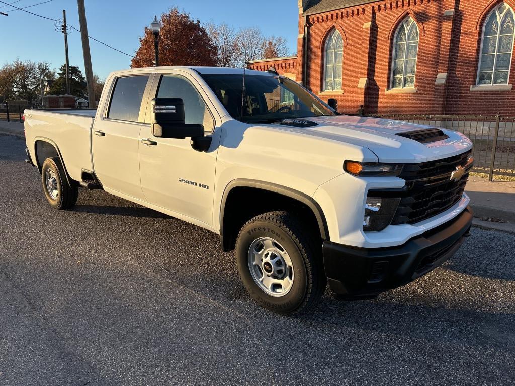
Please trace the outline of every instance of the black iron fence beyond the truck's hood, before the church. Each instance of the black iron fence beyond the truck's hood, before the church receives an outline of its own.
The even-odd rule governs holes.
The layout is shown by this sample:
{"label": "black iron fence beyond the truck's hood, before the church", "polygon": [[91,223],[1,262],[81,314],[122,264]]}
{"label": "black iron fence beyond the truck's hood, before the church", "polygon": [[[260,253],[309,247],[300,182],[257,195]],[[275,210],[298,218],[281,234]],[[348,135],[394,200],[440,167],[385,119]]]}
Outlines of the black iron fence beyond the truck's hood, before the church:
{"label": "black iron fence beyond the truck's hood, before the church", "polygon": [[455,130],[474,144],[473,171],[493,175],[515,176],[515,116],[496,115],[376,115],[420,125]]}

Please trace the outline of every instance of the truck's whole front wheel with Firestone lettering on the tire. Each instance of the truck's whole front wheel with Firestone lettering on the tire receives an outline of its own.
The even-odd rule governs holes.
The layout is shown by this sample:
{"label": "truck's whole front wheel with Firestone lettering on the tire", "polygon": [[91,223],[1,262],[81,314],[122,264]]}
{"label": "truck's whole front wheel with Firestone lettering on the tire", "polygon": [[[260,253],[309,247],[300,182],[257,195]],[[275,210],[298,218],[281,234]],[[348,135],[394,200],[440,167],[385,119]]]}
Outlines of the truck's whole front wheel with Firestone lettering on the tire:
{"label": "truck's whole front wheel with Firestone lettering on the tire", "polygon": [[325,289],[316,239],[288,212],[269,212],[249,220],[236,240],[243,284],[263,307],[296,313],[315,303]]}

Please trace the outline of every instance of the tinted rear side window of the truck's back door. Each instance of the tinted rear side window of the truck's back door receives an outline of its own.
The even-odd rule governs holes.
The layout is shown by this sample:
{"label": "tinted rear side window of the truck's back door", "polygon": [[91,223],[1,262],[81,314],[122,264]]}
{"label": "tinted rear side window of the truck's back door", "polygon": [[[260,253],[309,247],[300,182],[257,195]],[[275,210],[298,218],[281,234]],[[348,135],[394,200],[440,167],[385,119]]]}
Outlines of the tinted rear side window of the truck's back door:
{"label": "tinted rear side window of the truck's back door", "polygon": [[141,101],[148,78],[148,75],[118,78],[114,85],[107,117],[139,122]]}

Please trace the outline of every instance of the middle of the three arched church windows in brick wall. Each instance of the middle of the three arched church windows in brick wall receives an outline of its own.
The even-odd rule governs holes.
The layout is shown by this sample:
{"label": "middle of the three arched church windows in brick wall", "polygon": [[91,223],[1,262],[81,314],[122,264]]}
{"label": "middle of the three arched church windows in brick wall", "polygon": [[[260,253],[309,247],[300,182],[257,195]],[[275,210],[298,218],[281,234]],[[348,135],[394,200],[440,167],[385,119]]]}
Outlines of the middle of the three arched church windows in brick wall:
{"label": "middle of the three arched church windows in brick wall", "polygon": [[393,63],[391,88],[415,87],[419,30],[411,17],[406,17],[395,32],[393,40]]}

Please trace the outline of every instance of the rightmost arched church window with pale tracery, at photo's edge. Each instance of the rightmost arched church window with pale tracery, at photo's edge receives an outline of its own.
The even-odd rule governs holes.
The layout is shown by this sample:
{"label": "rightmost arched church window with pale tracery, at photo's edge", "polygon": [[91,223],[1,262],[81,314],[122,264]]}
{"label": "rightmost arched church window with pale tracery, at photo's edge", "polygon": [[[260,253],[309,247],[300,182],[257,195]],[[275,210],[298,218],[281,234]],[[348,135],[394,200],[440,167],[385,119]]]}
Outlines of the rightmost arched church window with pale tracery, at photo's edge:
{"label": "rightmost arched church window with pale tracery, at photo's edge", "polygon": [[495,7],[483,26],[477,85],[508,84],[514,34],[513,9],[506,3]]}

